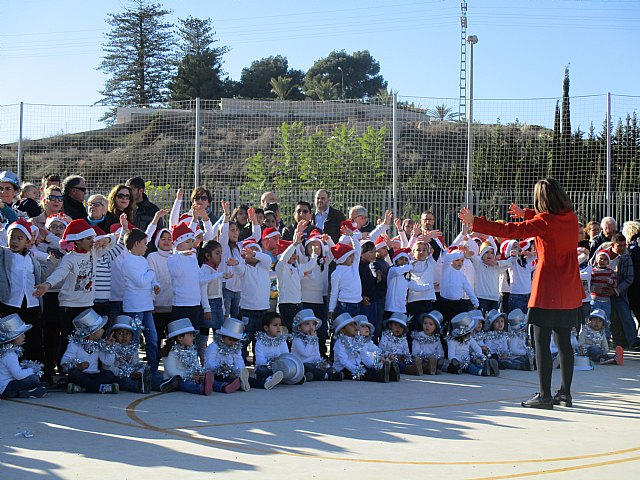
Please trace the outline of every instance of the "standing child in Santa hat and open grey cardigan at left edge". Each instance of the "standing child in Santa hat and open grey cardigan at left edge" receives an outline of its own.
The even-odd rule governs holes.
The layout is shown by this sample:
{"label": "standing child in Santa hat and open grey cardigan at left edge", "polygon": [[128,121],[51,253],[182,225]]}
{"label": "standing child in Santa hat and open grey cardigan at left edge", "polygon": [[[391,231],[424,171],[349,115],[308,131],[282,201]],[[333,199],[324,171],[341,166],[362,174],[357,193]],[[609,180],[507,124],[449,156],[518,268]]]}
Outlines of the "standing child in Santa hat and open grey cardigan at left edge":
{"label": "standing child in Santa hat and open grey cardigan at left edge", "polygon": [[[16,313],[33,325],[28,338],[28,358],[43,361],[40,304],[33,296],[36,284],[42,282],[42,267],[33,254],[34,225],[22,218],[7,228],[9,245],[0,247],[0,316]],[[37,227],[35,227],[37,229]]]}

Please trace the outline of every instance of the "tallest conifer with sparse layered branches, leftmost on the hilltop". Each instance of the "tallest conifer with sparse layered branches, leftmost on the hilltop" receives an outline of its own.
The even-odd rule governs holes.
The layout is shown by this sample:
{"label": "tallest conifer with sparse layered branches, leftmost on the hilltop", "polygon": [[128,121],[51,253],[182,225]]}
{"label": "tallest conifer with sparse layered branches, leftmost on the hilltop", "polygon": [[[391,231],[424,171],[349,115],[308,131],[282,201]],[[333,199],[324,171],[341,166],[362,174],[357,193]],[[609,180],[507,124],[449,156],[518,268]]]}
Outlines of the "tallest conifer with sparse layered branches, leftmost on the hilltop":
{"label": "tallest conifer with sparse layered branches, leftmost on the hilltop", "polygon": [[[122,13],[110,13],[111,31],[105,36],[99,70],[109,75],[100,103],[114,106],[146,106],[167,98],[172,73],[173,34],[159,4],[133,0]],[[113,112],[106,117],[113,116]]]}

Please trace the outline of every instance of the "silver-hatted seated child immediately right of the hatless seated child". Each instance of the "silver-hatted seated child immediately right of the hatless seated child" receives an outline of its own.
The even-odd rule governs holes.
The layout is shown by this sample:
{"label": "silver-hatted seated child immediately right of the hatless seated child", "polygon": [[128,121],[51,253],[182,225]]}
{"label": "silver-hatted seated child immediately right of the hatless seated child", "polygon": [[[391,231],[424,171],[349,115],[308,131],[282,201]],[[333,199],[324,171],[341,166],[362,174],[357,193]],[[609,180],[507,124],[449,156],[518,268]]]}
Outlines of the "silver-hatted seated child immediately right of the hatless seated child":
{"label": "silver-hatted seated child immediately right of the hatless seated child", "polygon": [[313,310],[300,310],[293,317],[291,353],[295,353],[302,360],[307,381],[340,381],[344,378],[342,372],[336,372],[320,355],[316,329],[321,324],[322,320],[315,316]]}

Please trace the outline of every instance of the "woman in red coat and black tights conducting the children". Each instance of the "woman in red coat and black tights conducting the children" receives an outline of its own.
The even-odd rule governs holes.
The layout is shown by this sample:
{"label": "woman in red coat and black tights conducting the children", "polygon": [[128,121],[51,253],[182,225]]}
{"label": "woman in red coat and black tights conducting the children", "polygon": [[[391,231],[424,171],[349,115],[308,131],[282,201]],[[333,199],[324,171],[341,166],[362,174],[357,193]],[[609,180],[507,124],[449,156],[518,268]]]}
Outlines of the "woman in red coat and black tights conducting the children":
{"label": "woman in red coat and black tights conducting the children", "polygon": [[[553,405],[571,406],[571,380],[573,379],[573,349],[571,327],[581,318],[584,289],[578,267],[578,217],[571,200],[560,184],[552,178],[536,183],[533,192],[534,210],[523,210],[517,205],[509,207],[512,217],[523,222],[501,224],[484,217],[474,217],[468,208],[460,210],[458,217],[471,224],[474,232],[506,238],[535,237],[538,267],[533,276],[529,299],[529,323],[538,364],[540,392],[522,402],[523,407],[553,409]],[[562,385],[551,396],[551,334],[558,346]]]}

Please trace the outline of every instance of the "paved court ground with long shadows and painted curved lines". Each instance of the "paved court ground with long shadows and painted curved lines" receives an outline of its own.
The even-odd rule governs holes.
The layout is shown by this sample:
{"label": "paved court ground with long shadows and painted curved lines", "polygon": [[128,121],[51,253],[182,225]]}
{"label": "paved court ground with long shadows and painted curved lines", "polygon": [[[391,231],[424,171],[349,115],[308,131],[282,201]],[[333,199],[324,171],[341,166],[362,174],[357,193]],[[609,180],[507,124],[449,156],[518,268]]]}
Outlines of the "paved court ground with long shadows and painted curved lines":
{"label": "paved court ground with long shadows and painted curved lines", "polygon": [[571,409],[520,407],[536,378],[2,401],[0,479],[633,478],[640,356],[576,372]]}

